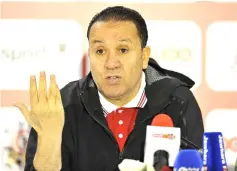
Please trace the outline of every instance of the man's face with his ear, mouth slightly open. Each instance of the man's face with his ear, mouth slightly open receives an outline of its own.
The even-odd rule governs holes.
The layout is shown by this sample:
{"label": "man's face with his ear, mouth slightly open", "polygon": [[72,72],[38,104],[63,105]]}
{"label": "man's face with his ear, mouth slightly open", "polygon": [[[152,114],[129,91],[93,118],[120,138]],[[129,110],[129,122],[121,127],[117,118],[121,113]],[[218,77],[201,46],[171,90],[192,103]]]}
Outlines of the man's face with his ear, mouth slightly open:
{"label": "man's face with his ear, mouth slightly open", "polygon": [[116,100],[139,89],[150,49],[142,49],[133,22],[96,22],[90,30],[88,53],[93,79],[106,98]]}

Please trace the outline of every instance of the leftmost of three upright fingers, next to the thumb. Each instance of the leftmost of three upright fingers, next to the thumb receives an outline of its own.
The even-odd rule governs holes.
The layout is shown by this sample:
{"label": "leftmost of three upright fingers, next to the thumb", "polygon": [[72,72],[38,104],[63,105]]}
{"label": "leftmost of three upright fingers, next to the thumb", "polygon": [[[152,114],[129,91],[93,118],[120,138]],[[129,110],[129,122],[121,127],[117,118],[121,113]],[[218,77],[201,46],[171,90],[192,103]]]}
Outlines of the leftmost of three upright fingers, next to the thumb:
{"label": "leftmost of three upright fingers, next to the thumb", "polygon": [[35,76],[30,77],[30,105],[33,108],[37,105],[39,101],[38,92],[37,92],[37,85],[36,85],[36,78]]}

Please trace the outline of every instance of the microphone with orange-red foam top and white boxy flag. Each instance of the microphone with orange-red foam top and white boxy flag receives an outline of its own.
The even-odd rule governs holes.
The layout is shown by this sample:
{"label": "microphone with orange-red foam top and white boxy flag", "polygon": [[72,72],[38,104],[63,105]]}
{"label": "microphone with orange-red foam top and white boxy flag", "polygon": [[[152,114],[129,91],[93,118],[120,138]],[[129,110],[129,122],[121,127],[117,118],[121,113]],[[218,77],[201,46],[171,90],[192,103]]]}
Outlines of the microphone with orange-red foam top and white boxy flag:
{"label": "microphone with orange-red foam top and white boxy flag", "polygon": [[180,128],[173,127],[168,115],[155,116],[152,125],[147,126],[144,162],[152,164],[156,170],[163,166],[173,166],[180,148],[180,137]]}

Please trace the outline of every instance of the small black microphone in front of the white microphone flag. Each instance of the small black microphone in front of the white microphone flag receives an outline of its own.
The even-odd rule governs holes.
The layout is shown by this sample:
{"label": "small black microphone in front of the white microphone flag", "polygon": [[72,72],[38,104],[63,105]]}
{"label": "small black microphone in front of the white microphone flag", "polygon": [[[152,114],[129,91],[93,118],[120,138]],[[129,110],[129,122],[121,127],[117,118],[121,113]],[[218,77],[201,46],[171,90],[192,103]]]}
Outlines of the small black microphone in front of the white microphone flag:
{"label": "small black microphone in front of the white microphone flag", "polygon": [[154,153],[153,166],[155,171],[161,171],[164,166],[169,166],[169,153],[165,150],[157,150]]}

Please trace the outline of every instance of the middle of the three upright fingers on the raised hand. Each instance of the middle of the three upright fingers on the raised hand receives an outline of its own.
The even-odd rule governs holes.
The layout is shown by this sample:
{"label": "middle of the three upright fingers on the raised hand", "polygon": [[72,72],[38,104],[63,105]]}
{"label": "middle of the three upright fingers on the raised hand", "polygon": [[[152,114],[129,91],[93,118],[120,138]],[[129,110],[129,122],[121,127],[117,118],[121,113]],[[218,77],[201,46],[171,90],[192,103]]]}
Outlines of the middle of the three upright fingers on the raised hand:
{"label": "middle of the three upright fingers on the raised hand", "polygon": [[47,89],[46,74],[45,72],[40,72],[39,101],[45,102],[47,100],[46,89]]}

